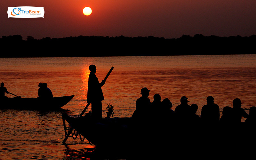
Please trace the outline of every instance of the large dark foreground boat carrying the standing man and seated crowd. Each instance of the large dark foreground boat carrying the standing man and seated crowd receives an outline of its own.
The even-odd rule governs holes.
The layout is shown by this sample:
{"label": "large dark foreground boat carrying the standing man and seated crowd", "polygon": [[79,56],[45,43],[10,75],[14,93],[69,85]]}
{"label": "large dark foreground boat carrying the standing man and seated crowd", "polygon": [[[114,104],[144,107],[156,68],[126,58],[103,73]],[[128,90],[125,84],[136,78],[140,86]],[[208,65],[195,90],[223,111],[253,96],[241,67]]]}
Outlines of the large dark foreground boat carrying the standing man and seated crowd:
{"label": "large dark foreground boat carrying the standing man and seated crowd", "polygon": [[159,154],[166,155],[170,152],[172,156],[191,156],[199,150],[212,155],[220,150],[234,152],[237,148],[241,149],[239,146],[242,144],[250,146],[250,143],[256,142],[254,127],[244,122],[233,126],[175,125],[157,121],[154,117],[140,122],[134,121],[132,117],[93,121],[87,114],[71,116],[67,113],[62,114],[62,119],[65,130],[62,143],[66,143],[68,137],[80,137],[81,141],[86,139],[90,144],[104,148],[103,150],[117,150],[118,153],[126,151],[126,154],[133,153],[134,156],[137,153],[150,153],[149,156],[156,154],[158,157]]}

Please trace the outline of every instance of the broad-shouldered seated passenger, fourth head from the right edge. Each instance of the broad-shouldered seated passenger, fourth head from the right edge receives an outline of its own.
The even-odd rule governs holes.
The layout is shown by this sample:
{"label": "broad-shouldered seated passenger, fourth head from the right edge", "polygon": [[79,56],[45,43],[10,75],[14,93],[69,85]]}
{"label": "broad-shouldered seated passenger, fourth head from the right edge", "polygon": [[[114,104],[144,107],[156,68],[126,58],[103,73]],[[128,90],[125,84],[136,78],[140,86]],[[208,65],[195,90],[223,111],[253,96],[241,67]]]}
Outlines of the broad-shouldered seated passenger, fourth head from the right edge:
{"label": "broad-shouldered seated passenger, fourth head from the right edge", "polygon": [[218,123],[220,121],[220,107],[214,103],[214,98],[208,96],[206,98],[207,104],[202,107],[201,121],[203,123]]}

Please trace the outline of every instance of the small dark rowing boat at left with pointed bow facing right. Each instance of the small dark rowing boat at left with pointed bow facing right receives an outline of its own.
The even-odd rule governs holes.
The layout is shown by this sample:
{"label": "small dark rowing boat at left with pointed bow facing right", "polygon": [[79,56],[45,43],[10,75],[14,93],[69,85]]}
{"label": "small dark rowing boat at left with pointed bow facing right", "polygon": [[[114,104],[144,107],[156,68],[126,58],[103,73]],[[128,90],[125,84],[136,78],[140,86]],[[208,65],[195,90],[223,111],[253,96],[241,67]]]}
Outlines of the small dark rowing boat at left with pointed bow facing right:
{"label": "small dark rowing boat at left with pointed bow facing right", "polygon": [[54,110],[65,106],[75,95],[51,99],[13,97],[2,100],[1,109]]}

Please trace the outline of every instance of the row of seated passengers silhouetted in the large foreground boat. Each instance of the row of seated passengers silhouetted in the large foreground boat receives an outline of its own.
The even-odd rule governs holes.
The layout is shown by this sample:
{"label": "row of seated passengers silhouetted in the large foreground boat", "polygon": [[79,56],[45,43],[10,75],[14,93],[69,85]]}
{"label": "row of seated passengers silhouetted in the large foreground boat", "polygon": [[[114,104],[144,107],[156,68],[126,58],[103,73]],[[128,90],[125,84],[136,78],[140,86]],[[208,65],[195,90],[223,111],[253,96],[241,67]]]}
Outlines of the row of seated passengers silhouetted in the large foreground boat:
{"label": "row of seated passengers silhouetted in the large foreground boat", "polygon": [[[136,101],[136,109],[132,115],[134,120],[148,119],[150,115],[154,121],[175,122],[179,124],[238,124],[242,117],[246,118],[246,123],[256,123],[256,107],[253,106],[249,110],[249,114],[241,108],[241,100],[236,98],[233,100],[233,108],[226,106],[223,108],[222,116],[220,117],[220,107],[214,103],[214,98],[208,96],[206,105],[202,107],[201,115],[197,115],[198,106],[196,104],[188,105],[188,98],[181,97],[180,105],[175,110],[172,110],[172,102],[165,98],[161,101],[159,94],[154,95],[154,100],[151,103],[148,96],[150,90],[146,87],[141,89],[141,97]],[[151,112],[151,113],[150,113]],[[154,113],[154,114],[153,114]]]}

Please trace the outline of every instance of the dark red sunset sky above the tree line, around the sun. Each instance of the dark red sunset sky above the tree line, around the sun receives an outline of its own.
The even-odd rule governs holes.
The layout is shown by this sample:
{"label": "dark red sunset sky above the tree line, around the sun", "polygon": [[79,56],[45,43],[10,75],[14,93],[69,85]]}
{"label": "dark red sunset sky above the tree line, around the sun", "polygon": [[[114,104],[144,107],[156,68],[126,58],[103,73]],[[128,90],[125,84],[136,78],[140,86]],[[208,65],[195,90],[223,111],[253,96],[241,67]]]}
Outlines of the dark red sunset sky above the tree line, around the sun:
{"label": "dark red sunset sky above the tree line, around the sun", "polygon": [[[0,37],[251,36],[255,0],[1,0]],[[44,18],[8,18],[8,7],[44,7]],[[84,7],[92,14],[85,16]]]}

